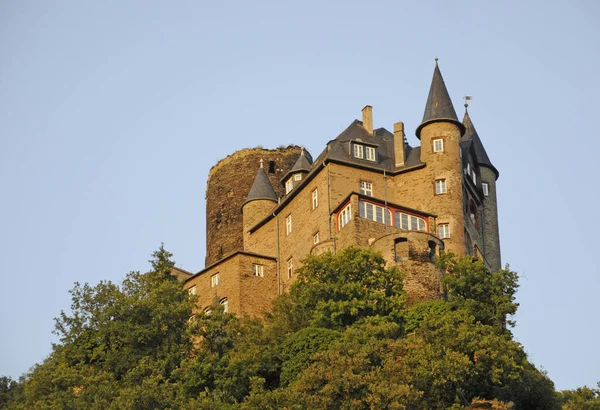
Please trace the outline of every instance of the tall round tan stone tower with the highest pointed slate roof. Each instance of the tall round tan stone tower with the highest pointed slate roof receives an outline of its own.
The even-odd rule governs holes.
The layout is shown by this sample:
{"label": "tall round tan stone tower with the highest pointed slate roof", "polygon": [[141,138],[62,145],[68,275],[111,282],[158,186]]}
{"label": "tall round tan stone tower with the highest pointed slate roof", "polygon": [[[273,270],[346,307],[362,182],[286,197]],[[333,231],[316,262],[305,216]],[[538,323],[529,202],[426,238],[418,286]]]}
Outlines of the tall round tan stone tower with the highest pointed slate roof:
{"label": "tall round tan stone tower with the highest pointed slate roof", "polygon": [[417,127],[416,135],[421,140],[421,161],[427,164],[431,178],[434,195],[428,208],[437,214],[436,234],[444,240],[447,250],[458,254],[465,253],[459,146],[464,131],[436,58],[423,121]]}

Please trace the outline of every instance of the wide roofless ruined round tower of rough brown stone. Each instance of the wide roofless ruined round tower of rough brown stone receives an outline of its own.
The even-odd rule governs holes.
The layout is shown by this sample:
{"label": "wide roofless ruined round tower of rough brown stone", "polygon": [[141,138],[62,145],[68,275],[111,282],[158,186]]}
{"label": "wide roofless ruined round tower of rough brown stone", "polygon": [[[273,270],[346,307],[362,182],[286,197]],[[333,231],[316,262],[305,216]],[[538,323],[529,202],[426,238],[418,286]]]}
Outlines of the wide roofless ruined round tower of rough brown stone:
{"label": "wide roofless ruined round tower of rough brown stone", "polygon": [[279,181],[294,166],[300,152],[301,148],[295,145],[273,150],[242,149],[210,169],[206,184],[206,266],[243,250],[240,210],[254,183],[260,160],[275,194],[282,197],[285,190]]}

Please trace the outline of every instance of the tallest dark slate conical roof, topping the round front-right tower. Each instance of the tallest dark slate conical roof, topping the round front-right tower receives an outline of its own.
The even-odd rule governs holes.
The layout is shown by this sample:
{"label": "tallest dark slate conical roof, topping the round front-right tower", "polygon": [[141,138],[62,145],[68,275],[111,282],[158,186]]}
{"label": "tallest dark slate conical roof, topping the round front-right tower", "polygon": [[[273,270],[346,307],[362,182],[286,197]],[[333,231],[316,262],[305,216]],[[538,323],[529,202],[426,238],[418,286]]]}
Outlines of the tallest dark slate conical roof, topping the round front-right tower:
{"label": "tallest dark slate conical roof, topping the round front-right tower", "polygon": [[421,130],[427,124],[440,121],[454,123],[460,129],[461,134],[465,132],[465,127],[458,121],[456,111],[454,111],[452,100],[446,89],[446,84],[444,83],[444,78],[442,77],[436,58],[433,79],[431,80],[431,87],[429,88],[429,96],[427,97],[427,104],[425,104],[423,121],[417,127],[416,131],[417,138],[421,139]]}

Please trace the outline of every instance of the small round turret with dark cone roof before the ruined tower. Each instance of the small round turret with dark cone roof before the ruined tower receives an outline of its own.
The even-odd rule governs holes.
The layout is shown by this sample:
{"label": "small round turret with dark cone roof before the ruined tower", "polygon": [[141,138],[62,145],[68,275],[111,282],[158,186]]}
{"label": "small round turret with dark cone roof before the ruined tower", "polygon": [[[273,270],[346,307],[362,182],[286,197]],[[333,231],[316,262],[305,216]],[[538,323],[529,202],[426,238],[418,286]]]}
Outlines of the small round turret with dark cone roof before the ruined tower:
{"label": "small round turret with dark cone roof before the ruined tower", "polygon": [[263,168],[263,160],[260,160],[260,168],[254,178],[254,183],[246,201],[242,204],[242,218],[244,224],[244,244],[249,230],[258,222],[263,220],[277,205],[278,198],[269,177]]}

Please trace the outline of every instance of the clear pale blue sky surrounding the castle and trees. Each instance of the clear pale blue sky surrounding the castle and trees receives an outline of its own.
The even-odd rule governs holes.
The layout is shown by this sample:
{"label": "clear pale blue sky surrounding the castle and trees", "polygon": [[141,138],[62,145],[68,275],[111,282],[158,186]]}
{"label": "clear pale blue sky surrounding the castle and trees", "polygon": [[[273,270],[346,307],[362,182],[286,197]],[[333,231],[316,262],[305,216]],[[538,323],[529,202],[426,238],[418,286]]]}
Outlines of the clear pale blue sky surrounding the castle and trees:
{"label": "clear pale blue sky surrounding the castle and trees", "polygon": [[208,171],[316,156],[370,104],[409,141],[439,64],[500,171],[515,338],[558,389],[600,380],[600,3],[0,2],[0,375],[44,359],[75,281],[204,267]]}

